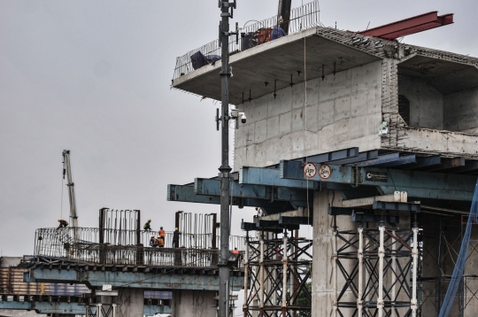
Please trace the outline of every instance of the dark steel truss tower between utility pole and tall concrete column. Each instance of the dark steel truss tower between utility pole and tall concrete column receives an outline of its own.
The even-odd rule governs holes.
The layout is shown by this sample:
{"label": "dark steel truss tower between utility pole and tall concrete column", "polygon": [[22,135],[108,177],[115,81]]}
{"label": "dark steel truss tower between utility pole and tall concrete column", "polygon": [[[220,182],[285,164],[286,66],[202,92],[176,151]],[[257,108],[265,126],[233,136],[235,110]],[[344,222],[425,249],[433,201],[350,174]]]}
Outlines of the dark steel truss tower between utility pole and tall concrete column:
{"label": "dark steel truss tower between utility pole and tall concrete column", "polygon": [[243,316],[292,317],[311,311],[312,240],[247,238]]}

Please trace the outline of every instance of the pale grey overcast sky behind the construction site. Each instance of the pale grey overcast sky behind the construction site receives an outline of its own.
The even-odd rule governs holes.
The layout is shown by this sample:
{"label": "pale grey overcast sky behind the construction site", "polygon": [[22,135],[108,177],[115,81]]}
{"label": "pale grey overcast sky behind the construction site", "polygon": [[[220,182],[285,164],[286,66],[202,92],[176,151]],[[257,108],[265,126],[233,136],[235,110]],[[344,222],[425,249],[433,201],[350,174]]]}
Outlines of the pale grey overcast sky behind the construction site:
{"label": "pale grey overcast sky behind the construction site", "polygon": [[[356,31],[369,22],[376,27],[424,12],[455,13],[455,24],[404,42],[478,56],[475,1],[330,0],[320,9],[326,26]],[[277,0],[237,0],[233,22],[276,11]],[[143,220],[166,230],[173,229],[177,210],[219,212],[217,205],[166,201],[168,183],[218,173],[217,105],[170,84],[175,58],[214,40],[219,20],[217,0],[0,0],[4,255],[32,254],[35,228],[67,219],[66,187],[61,212],[64,149],[72,151],[81,227],[96,227],[102,207],[140,209]],[[235,210],[233,233],[252,214],[251,208]]]}

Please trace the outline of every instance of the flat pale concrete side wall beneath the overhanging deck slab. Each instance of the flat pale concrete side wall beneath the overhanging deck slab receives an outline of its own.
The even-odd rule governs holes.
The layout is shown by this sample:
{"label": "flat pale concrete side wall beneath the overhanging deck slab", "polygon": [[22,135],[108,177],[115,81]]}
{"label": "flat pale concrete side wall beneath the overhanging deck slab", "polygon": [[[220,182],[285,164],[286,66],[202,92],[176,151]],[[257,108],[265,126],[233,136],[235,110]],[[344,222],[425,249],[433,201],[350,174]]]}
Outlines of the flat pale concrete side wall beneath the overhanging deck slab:
{"label": "flat pale concrete side wall beneath the overhanging deck slab", "polygon": [[239,104],[248,119],[235,131],[235,169],[353,146],[378,149],[381,97],[377,61]]}

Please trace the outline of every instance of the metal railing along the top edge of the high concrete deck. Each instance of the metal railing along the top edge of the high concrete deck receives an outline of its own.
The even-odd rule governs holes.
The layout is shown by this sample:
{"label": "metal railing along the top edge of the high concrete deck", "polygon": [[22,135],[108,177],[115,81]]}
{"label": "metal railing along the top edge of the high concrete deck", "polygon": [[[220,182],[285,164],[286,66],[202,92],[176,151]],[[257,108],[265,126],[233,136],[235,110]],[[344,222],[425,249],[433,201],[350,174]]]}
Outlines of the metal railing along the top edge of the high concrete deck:
{"label": "metal railing along the top edge of the high concrete deck", "polygon": [[[274,40],[274,36],[272,36],[274,27],[277,27],[283,23],[289,24],[289,29],[285,30],[286,35],[298,33],[306,28],[322,26],[320,23],[320,6],[318,0],[292,9],[290,11],[289,20],[279,21],[278,23],[277,16],[274,16],[261,21],[251,21],[254,21],[255,23],[248,26],[244,25],[243,29],[240,31],[241,36],[238,43],[235,41],[235,35],[230,36],[230,55],[239,51],[249,50],[252,47],[258,46],[262,43]],[[246,24],[248,22],[246,22]],[[205,57],[204,63],[199,63],[199,65],[193,66],[191,58],[197,56],[196,54],[198,52]],[[204,66],[204,64],[211,64],[217,58],[220,58],[219,39],[214,40],[211,43],[207,43],[197,50],[191,50],[183,56],[176,58],[176,67],[174,68],[173,80],[186,73],[192,72],[195,70],[195,68]],[[205,60],[208,60],[208,62]]]}

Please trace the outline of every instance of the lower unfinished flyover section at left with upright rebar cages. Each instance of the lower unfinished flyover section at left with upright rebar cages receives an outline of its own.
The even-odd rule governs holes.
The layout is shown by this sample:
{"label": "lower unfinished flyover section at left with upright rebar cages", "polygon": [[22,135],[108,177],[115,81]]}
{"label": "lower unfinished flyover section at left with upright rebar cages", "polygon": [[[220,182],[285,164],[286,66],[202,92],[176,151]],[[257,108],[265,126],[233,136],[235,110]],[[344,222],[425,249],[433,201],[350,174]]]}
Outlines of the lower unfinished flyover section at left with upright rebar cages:
{"label": "lower unfinished flyover section at left with upright rebar cages", "polygon": [[[215,217],[197,220],[196,215],[177,213],[181,233],[178,248],[172,248],[171,233],[165,235],[165,246],[150,244],[154,231],[139,230],[125,226],[118,219],[134,219],[131,214],[118,216],[104,213],[100,221],[122,223],[120,228],[101,225],[99,228],[40,228],[35,234],[35,255],[26,257],[20,265],[23,281],[30,284],[69,283],[83,284],[89,294],[78,298],[50,298],[58,302],[53,310],[83,310],[96,313],[102,307],[103,316],[135,316],[135,314],[173,313],[188,316],[196,313],[215,313],[219,285],[218,254],[215,244],[219,236],[215,233]],[[109,215],[114,214],[110,221]],[[135,213],[136,214],[136,213]],[[199,217],[201,218],[201,217]],[[197,220],[204,230],[194,232],[186,228],[184,221]],[[214,221],[214,224],[209,222]],[[193,226],[194,227],[194,226]],[[74,237],[74,238],[73,238]],[[230,244],[243,250],[243,238],[230,236]],[[101,243],[100,243],[101,242]],[[231,268],[229,281],[231,290],[243,287],[243,261],[240,255]],[[170,293],[171,298],[158,298],[157,293]],[[152,294],[152,295],[151,295]],[[155,295],[156,294],[156,295]],[[23,294],[22,294],[23,295]],[[14,300],[13,300],[14,299]],[[26,304],[20,303],[23,299]],[[42,298],[44,299],[44,298]],[[42,300],[40,300],[42,301]],[[12,298],[4,307],[17,306],[41,311],[47,309],[37,298]],[[71,307],[80,303],[81,307]],[[17,303],[17,304],[15,304]]]}

